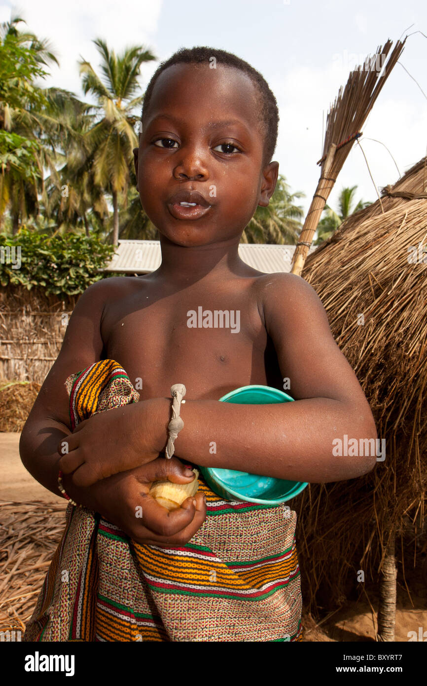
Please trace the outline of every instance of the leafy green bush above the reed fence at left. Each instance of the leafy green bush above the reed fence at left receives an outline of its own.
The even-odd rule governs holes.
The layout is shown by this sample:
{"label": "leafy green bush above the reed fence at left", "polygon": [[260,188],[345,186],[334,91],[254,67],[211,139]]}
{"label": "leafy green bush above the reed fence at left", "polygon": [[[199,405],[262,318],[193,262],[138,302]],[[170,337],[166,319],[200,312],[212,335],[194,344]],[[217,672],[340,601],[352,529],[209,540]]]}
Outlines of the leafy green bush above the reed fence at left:
{"label": "leafy green bush above the reed fence at left", "polygon": [[[6,246],[15,248],[15,263],[19,263],[21,248],[18,269],[13,268]],[[42,287],[47,294],[77,295],[103,278],[100,270],[113,253],[114,246],[95,237],[74,233],[49,236],[23,226],[13,237],[0,233],[0,283],[3,287],[22,285],[28,290]]]}

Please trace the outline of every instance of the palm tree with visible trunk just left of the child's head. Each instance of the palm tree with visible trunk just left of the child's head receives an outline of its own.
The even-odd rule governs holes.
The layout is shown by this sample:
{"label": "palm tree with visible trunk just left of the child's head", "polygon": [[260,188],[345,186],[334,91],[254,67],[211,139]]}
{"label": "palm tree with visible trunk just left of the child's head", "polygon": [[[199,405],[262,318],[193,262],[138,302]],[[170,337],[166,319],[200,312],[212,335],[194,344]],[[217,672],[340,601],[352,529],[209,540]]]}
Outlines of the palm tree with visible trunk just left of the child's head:
{"label": "palm tree with visible trunk just left of the child's head", "polygon": [[[80,74],[84,93],[97,98],[101,119],[88,131],[86,139],[92,159],[96,185],[111,193],[113,206],[112,243],[119,240],[119,194],[127,198],[132,149],[138,145],[134,126],[143,95],[138,84],[141,64],[156,57],[142,45],[125,49],[120,56],[110,51],[105,41],[94,40],[101,56],[99,77],[91,64],[81,60]],[[138,95],[136,95],[138,93]]]}

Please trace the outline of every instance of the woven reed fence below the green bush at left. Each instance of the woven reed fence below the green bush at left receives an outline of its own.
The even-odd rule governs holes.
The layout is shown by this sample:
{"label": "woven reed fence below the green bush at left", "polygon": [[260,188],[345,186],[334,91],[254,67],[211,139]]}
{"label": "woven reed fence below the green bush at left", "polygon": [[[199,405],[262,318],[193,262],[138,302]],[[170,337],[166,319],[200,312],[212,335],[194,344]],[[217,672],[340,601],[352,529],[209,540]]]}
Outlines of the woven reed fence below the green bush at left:
{"label": "woven reed fence below the green bush at left", "polygon": [[58,357],[77,296],[0,288],[0,378],[42,383]]}

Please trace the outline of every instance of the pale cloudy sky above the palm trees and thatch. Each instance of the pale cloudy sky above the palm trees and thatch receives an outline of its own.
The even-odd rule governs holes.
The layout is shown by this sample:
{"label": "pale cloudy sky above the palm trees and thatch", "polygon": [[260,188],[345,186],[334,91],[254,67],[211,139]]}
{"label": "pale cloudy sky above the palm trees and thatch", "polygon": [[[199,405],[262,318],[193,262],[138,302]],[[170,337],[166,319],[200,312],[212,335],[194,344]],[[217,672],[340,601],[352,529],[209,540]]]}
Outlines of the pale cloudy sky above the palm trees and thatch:
{"label": "pale cloudy sky above the palm trees and thatch", "polygon": [[[97,69],[95,38],[116,52],[130,45],[151,49],[157,61],[143,66],[143,90],[158,62],[180,47],[217,47],[252,64],[276,95],[280,124],[273,159],[291,191],[306,194],[298,201],[304,211],[319,179],[322,122],[339,86],[388,38],[412,34],[363,127],[361,145],[377,187],[394,183],[427,154],[425,0],[0,0],[0,22],[9,21],[11,12],[25,19],[29,31],[48,38],[58,56],[60,67],[51,68],[45,85],[83,99],[77,60],[83,57]],[[339,191],[354,185],[356,200],[376,200],[357,144],[328,204],[337,209]]]}

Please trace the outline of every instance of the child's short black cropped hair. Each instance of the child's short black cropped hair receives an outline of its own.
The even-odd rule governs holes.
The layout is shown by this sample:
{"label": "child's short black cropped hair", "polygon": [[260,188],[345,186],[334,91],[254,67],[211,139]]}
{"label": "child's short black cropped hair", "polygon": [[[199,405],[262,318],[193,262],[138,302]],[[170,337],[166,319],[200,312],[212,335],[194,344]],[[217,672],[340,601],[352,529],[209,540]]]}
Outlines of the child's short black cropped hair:
{"label": "child's short black cropped hair", "polygon": [[243,73],[249,76],[258,91],[258,114],[260,123],[265,132],[264,166],[271,161],[274,150],[276,150],[279,123],[279,110],[276,97],[274,97],[274,94],[263,75],[260,74],[259,71],[256,71],[248,62],[245,62],[245,60],[242,60],[231,52],[213,47],[206,47],[206,45],[197,45],[192,48],[182,47],[173,53],[168,60],[160,62],[145,91],[141,122],[144,121],[144,117],[148,111],[156,81],[164,69],[171,67],[173,64],[210,64],[212,63],[210,62],[212,58],[215,58],[216,62],[219,64],[226,64],[228,67],[234,67],[234,69],[243,71]]}

